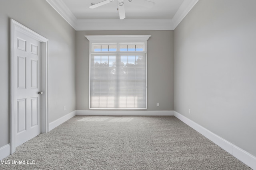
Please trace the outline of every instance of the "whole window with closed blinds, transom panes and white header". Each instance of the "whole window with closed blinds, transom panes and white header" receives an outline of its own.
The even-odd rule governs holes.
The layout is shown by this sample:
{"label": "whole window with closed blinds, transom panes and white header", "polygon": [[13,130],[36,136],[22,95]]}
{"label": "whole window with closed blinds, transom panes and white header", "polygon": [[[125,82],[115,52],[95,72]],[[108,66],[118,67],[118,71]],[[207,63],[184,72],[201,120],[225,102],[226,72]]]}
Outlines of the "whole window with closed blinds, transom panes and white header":
{"label": "whole window with closed blinds, transom panes and white header", "polygon": [[101,36],[98,41],[92,41],[98,36],[86,37],[90,41],[90,109],[146,109],[146,40],[150,36],[146,40],[144,36],[144,40]]}

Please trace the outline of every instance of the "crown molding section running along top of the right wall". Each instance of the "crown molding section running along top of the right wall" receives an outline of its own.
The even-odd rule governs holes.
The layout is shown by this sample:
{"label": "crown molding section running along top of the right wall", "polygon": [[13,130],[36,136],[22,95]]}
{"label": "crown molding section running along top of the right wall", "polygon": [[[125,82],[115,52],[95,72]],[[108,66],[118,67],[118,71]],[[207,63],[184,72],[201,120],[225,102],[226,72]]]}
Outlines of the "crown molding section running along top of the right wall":
{"label": "crown molding section running along top of the right wall", "polygon": [[184,0],[172,18],[174,29],[179,25],[179,23],[185,18],[185,16],[190,12],[190,10],[196,5],[198,0]]}

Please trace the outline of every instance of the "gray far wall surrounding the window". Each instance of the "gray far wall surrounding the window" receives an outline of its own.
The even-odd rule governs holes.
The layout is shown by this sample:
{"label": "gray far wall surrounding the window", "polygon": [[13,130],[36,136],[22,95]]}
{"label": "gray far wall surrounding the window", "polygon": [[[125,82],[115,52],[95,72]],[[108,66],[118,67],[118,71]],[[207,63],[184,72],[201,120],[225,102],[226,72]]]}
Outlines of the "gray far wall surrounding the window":
{"label": "gray far wall surrounding the window", "polygon": [[152,35],[147,43],[148,110],[174,109],[173,31],[76,31],[77,110],[89,109],[89,41],[84,35]]}

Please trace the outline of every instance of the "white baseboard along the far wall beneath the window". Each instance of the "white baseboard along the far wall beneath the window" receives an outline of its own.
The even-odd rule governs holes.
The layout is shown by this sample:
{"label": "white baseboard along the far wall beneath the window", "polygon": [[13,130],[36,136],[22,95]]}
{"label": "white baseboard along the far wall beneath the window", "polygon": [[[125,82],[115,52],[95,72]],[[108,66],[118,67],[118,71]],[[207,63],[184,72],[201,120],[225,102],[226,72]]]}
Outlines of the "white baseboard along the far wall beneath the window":
{"label": "white baseboard along the far wall beneath the window", "polygon": [[119,110],[76,110],[76,115],[90,115],[90,116],[173,116],[173,110],[156,110],[156,111],[147,111],[147,110],[127,110],[127,111],[119,111]]}

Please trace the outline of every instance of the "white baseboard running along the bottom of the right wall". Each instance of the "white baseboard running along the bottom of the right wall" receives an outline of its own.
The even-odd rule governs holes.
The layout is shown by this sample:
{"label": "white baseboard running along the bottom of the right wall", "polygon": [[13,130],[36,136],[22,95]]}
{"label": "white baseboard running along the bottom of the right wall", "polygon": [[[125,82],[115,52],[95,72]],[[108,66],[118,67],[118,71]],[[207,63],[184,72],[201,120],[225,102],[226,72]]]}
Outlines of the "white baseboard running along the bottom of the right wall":
{"label": "white baseboard running along the bottom of the right wall", "polygon": [[187,117],[181,115],[180,113],[174,111],[174,116],[204,135],[206,138],[210,139],[216,145],[226,150],[228,153],[232,154],[237,159],[244,162],[244,164],[250,166],[252,169],[256,170],[256,157],[252,154],[246,152],[245,150],[237,147],[236,145],[226,141],[222,137],[212,133],[208,129],[198,125],[196,122],[188,119]]}

